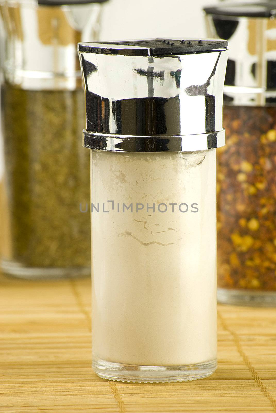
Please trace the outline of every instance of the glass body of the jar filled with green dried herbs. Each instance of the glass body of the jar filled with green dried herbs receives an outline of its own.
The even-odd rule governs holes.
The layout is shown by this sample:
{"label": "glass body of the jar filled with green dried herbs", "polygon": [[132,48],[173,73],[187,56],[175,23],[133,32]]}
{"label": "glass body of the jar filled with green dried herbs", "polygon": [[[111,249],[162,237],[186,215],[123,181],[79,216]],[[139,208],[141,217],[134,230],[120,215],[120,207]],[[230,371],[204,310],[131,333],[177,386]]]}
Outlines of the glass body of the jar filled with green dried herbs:
{"label": "glass body of the jar filled with green dried herbs", "polygon": [[1,268],[21,278],[90,273],[89,156],[82,89],[1,88],[5,243]]}

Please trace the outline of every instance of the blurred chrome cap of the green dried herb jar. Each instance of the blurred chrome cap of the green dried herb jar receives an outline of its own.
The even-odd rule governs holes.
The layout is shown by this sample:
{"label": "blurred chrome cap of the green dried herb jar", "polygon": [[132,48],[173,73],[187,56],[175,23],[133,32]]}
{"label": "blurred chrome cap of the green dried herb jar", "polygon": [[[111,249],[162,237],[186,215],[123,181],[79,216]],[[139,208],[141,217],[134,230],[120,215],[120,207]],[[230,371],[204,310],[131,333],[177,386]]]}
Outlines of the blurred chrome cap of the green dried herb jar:
{"label": "blurred chrome cap of the green dried herb jar", "polygon": [[1,77],[26,90],[82,88],[76,46],[98,40],[104,0],[0,0]]}

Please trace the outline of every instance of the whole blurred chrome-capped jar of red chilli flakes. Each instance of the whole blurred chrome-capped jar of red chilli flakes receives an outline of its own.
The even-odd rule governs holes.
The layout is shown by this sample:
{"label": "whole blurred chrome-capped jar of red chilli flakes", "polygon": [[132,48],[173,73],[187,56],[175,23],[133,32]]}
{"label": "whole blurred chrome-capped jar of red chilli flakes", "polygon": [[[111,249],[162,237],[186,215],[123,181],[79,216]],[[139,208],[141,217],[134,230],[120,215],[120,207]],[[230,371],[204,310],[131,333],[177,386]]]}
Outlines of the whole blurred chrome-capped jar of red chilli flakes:
{"label": "whole blurred chrome-capped jar of red chilli flakes", "polygon": [[217,152],[218,300],[276,305],[276,1],[205,8],[229,40]]}

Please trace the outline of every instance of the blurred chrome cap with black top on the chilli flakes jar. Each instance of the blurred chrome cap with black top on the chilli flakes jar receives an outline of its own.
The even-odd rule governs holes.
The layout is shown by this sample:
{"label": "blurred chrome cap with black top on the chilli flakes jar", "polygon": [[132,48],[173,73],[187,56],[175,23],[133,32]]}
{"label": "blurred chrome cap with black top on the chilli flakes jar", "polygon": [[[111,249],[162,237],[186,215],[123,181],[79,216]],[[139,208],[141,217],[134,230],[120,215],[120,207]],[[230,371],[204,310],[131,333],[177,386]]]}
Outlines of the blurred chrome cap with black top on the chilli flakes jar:
{"label": "blurred chrome cap with black top on the chilli flakes jar", "polygon": [[224,101],[276,105],[276,1],[205,7],[208,36],[229,40]]}

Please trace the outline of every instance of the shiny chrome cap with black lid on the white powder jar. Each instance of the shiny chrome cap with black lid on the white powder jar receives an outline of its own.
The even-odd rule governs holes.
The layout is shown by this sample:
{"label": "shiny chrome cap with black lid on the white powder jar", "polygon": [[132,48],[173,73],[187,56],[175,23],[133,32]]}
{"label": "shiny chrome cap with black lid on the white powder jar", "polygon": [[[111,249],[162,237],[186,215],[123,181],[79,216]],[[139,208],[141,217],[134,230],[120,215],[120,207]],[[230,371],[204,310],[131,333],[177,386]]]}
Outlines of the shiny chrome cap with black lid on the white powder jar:
{"label": "shiny chrome cap with black lid on the white powder jar", "polygon": [[224,145],[225,40],[79,43],[84,146],[124,152]]}

